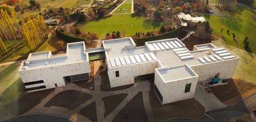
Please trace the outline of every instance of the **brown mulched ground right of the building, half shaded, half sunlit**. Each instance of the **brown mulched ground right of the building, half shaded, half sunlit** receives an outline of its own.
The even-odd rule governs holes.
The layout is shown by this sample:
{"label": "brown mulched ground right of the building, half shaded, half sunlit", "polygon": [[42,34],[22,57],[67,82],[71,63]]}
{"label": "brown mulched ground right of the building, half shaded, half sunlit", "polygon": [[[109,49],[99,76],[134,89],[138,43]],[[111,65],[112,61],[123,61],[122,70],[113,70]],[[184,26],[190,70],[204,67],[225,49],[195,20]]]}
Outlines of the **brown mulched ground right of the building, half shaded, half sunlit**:
{"label": "brown mulched ground right of the building, half shaded, half sunlit", "polygon": [[[224,104],[228,105],[227,110],[250,112],[253,108],[247,107],[243,98],[256,92],[256,85],[247,83],[243,79],[225,79],[227,85],[214,86],[212,93]],[[221,110],[220,110],[221,111]]]}

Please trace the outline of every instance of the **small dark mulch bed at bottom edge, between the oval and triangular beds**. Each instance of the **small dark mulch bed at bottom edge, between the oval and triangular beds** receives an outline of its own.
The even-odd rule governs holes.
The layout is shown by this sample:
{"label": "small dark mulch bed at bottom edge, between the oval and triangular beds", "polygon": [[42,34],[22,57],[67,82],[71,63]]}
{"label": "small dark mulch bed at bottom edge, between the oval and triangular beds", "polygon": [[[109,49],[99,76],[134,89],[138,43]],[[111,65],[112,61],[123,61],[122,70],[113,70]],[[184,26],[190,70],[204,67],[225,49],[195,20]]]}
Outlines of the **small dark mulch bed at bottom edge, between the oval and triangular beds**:
{"label": "small dark mulch bed at bottom edge, between the oval and triangular beds", "polygon": [[79,114],[83,115],[84,117],[90,119],[93,122],[97,122],[97,111],[95,102],[92,102],[91,104],[81,109],[81,111],[79,111]]}

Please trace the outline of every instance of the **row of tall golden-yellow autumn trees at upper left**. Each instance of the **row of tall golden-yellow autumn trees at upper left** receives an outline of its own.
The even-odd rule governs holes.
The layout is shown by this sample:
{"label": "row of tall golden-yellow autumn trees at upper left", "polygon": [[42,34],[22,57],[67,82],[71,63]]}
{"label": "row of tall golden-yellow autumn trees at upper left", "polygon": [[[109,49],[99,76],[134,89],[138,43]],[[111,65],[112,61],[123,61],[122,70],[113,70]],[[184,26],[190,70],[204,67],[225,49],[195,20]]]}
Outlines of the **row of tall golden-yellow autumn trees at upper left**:
{"label": "row of tall golden-yellow autumn trees at upper left", "polygon": [[10,10],[0,10],[0,53],[8,51],[5,43],[11,41],[26,43],[32,51],[35,51],[48,37],[44,18],[38,15],[35,18],[17,20],[15,13],[8,11]]}

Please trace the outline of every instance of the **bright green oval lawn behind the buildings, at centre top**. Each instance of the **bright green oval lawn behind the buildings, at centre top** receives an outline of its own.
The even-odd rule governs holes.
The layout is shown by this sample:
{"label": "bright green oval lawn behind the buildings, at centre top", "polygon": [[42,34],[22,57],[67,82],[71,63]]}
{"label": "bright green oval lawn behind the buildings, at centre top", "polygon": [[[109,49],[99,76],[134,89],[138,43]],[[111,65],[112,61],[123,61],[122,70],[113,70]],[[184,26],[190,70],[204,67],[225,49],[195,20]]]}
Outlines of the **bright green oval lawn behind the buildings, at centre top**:
{"label": "bright green oval lawn behind the buildings, at centre top", "polygon": [[88,22],[81,26],[85,32],[94,32],[99,38],[105,37],[107,33],[120,31],[122,36],[132,36],[136,32],[150,32],[159,30],[163,23],[157,20],[145,20],[143,17],[131,17],[131,15],[112,15],[112,17]]}

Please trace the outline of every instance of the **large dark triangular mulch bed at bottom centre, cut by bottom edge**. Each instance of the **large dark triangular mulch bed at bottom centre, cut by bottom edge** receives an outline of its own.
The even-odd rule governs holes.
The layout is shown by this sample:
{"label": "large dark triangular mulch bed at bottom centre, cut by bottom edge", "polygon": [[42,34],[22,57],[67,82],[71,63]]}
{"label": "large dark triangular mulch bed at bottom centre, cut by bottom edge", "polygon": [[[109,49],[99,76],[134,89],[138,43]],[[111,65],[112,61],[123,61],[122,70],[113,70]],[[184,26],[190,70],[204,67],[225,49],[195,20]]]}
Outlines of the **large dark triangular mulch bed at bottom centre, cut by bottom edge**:
{"label": "large dark triangular mulch bed at bottom centre, cut by bottom edge", "polygon": [[147,112],[143,104],[142,92],[135,95],[128,104],[118,112],[113,121],[148,121]]}

